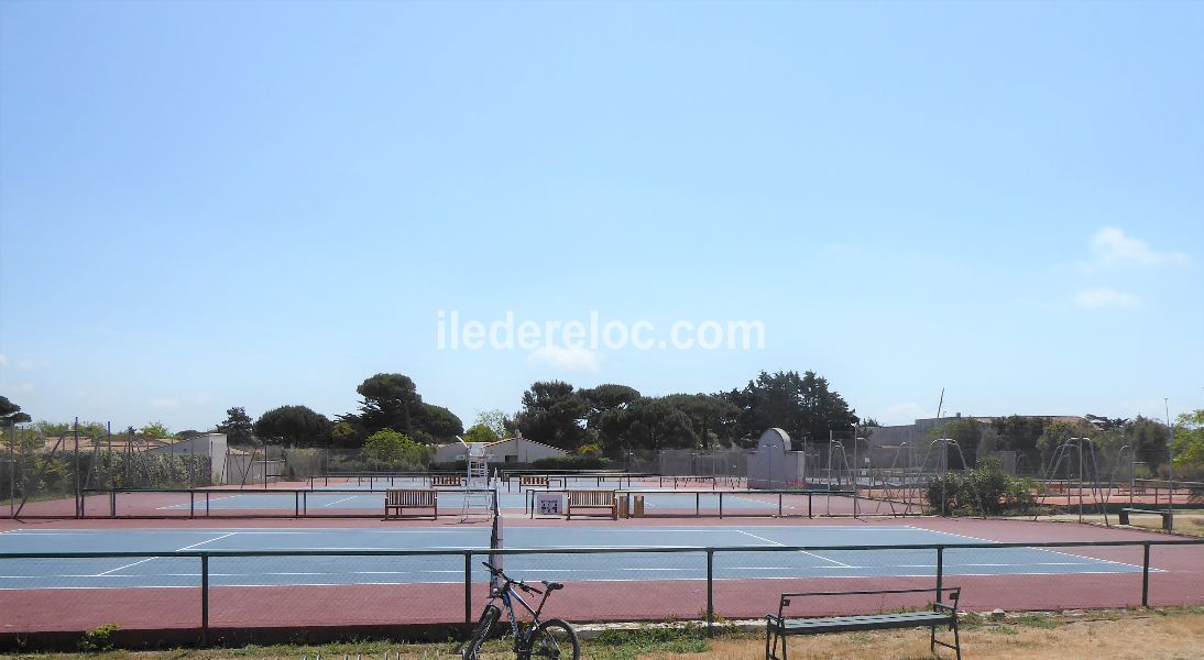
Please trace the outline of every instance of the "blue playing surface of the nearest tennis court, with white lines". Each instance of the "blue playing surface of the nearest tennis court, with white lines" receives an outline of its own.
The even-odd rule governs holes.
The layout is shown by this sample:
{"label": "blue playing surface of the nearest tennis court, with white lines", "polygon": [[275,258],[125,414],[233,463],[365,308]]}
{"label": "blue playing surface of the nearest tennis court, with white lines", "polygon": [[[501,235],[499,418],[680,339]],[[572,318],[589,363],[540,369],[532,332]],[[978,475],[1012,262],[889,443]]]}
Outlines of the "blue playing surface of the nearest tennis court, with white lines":
{"label": "blue playing surface of the nearest tennis court, with white lines", "polygon": [[[13,530],[0,552],[488,549],[490,530],[146,529]],[[981,541],[910,526],[520,528],[507,548],[887,546],[944,543],[946,576],[1133,573],[1140,566],[1037,548],[956,548]],[[478,555],[473,561],[483,560]],[[535,554],[506,558],[514,577],[572,581],[706,579],[704,553]],[[721,552],[716,579],[931,577],[934,550]],[[199,587],[196,558],[0,560],[0,589]],[[474,567],[478,567],[474,565]],[[485,571],[473,578],[485,579]],[[464,555],[211,558],[217,587],[462,583]]]}

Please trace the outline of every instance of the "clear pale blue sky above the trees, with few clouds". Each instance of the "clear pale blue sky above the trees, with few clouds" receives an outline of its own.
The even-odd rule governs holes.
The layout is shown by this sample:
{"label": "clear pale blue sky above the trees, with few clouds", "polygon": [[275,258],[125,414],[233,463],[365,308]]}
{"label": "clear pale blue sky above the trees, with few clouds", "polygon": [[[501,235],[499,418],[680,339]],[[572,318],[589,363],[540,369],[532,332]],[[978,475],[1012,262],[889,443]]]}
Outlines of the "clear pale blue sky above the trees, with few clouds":
{"label": "clear pale blue sky above the trees, with few clouds", "polygon": [[[862,416],[1204,406],[1204,6],[0,5],[0,393],[203,429],[813,369]],[[450,350],[437,314],[756,320]]]}

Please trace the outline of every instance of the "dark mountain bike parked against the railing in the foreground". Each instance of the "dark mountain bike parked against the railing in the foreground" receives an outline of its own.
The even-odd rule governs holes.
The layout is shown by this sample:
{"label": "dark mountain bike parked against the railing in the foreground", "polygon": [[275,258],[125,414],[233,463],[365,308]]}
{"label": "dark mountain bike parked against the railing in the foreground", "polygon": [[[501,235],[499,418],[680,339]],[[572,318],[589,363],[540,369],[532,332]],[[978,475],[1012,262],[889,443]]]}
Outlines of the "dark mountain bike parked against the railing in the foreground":
{"label": "dark mountain bike parked against the railing in the foreground", "polygon": [[[515,658],[519,660],[530,660],[531,658],[580,659],[582,644],[577,640],[577,632],[573,630],[573,626],[568,625],[568,621],[563,619],[539,620],[539,614],[543,613],[543,606],[547,605],[548,596],[557,589],[563,589],[563,584],[541,581],[543,584],[543,590],[541,591],[520,579],[507,576],[501,568],[495,568],[484,561],[482,564],[489,568],[489,572],[495,578],[501,579],[501,585],[489,590],[489,600],[485,602],[485,609],[480,613],[480,620],[472,629],[472,635],[468,640],[456,647],[456,653],[460,654],[462,660],[477,660],[477,654],[480,652],[480,646],[485,642],[485,638],[489,637],[490,629],[501,619],[502,609],[494,605],[495,600],[501,600],[507,614],[509,614],[510,636],[514,637]],[[539,601],[539,607],[532,608],[527,605],[523,600],[523,596],[519,595],[519,591],[542,594],[543,600]],[[514,613],[515,601],[531,613],[531,625],[525,629],[520,625],[518,615]]]}

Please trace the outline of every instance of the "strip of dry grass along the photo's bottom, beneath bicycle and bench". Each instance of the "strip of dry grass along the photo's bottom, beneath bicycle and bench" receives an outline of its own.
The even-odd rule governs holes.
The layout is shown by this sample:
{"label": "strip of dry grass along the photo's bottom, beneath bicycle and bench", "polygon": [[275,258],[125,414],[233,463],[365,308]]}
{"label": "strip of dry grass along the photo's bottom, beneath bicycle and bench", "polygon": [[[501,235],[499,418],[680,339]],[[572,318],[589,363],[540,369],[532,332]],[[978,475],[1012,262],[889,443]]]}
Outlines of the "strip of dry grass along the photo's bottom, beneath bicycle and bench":
{"label": "strip of dry grass along the photo's bottom, beneath bicycle and bench", "polygon": [[[1003,621],[966,617],[963,656],[974,660],[1187,660],[1204,658],[1204,608],[1091,611],[1078,615],[1026,615]],[[942,638],[951,638],[942,632]],[[453,643],[401,644],[347,642],[342,644],[243,647],[229,649],[175,649],[159,652],[111,650],[96,654],[0,654],[0,660],[450,660]],[[486,660],[512,659],[506,641],[490,642]],[[760,660],[763,634],[733,634],[706,640],[698,627],[649,630],[588,640],[582,656],[589,660]],[[951,650],[928,652],[927,630],[892,630],[795,637],[793,660],[932,660],[954,658]]]}

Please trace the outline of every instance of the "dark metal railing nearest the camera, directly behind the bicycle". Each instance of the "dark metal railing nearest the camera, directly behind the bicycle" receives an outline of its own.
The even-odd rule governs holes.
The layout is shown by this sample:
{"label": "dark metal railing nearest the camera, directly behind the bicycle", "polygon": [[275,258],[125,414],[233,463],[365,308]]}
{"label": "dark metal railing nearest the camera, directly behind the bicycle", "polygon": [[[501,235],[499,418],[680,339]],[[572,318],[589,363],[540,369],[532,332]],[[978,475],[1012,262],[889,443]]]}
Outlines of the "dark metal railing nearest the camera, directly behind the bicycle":
{"label": "dark metal railing nearest the camera, directly behind the bicycle", "polygon": [[[207,644],[209,641],[209,560],[213,558],[313,558],[313,556],[414,556],[414,558],[452,558],[458,556],[464,560],[464,621],[471,624],[473,614],[473,561],[483,560],[490,555],[519,556],[519,555],[588,555],[588,554],[698,554],[706,555],[706,624],[708,632],[714,630],[715,624],[715,556],[725,553],[832,553],[832,552],[881,552],[881,550],[931,550],[936,554],[936,585],[933,594],[940,601],[940,593],[945,582],[945,553],[948,550],[964,549],[1052,549],[1052,548],[1141,548],[1141,595],[1140,603],[1149,607],[1150,603],[1150,549],[1158,547],[1200,547],[1204,540],[1149,540],[1149,541],[1055,541],[1055,542],[972,542],[972,543],[913,543],[891,546],[679,546],[679,547],[631,547],[631,548],[466,548],[466,549],[321,549],[321,550],[178,550],[178,552],[33,552],[33,553],[0,553],[0,562],[22,559],[137,559],[137,558],[191,558],[200,562],[200,626],[199,641]],[[1093,559],[1085,556],[1084,559]],[[1202,558],[1204,559],[1204,558]],[[1098,560],[1108,561],[1108,560]],[[1017,564],[1023,566],[1023,564]],[[1137,566],[1133,565],[1135,568]],[[1064,573],[1074,576],[1076,573]],[[1121,573],[1126,574],[1126,573]],[[1007,573],[1003,574],[1004,577]],[[852,576],[856,577],[856,576]],[[914,577],[914,576],[913,576]],[[807,579],[801,578],[801,579]],[[352,587],[354,584],[348,584]],[[236,588],[237,585],[230,585]],[[444,621],[445,624],[458,624],[459,621]]]}

